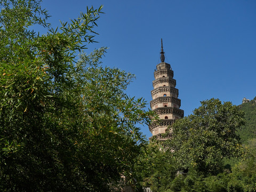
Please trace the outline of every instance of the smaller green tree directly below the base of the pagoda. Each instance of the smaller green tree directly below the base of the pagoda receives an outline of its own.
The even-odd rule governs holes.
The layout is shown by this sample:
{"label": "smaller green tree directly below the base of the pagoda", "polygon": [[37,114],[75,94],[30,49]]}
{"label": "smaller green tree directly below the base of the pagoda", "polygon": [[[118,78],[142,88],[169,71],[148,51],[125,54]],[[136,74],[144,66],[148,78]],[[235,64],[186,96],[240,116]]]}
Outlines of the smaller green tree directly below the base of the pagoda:
{"label": "smaller green tree directly below the base of the pagoda", "polygon": [[178,171],[177,163],[172,154],[165,151],[161,143],[157,141],[149,143],[145,153],[138,158],[136,168],[136,172],[141,177],[141,182],[138,184],[159,192],[171,188],[172,181],[177,176]]}

